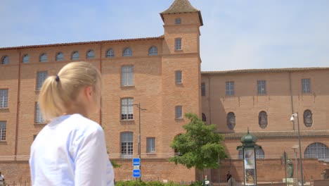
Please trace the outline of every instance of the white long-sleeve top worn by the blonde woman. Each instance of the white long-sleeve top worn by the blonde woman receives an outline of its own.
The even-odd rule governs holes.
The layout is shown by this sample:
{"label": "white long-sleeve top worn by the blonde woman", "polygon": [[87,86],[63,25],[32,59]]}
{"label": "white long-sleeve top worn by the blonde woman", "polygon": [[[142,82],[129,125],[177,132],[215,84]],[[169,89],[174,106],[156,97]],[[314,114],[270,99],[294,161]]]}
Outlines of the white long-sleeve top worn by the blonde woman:
{"label": "white long-sleeve top worn by the blonde woman", "polygon": [[103,129],[79,114],[60,116],[35,138],[32,185],[114,185]]}

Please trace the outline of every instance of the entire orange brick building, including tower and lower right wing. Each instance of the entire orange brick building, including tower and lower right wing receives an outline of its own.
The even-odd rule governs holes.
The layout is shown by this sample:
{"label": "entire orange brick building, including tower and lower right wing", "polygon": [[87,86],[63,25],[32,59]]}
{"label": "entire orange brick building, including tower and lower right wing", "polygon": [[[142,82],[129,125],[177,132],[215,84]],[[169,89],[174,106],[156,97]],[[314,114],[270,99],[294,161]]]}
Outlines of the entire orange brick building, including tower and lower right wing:
{"label": "entire orange brick building, including tower and lower right wing", "polygon": [[[201,179],[193,168],[168,163],[174,156],[169,144],[188,123],[186,112],[217,124],[226,136],[229,158],[221,168],[205,171],[214,182],[224,182],[228,169],[243,179],[236,147],[247,128],[264,149],[259,180],[280,181],[280,155],[285,150],[293,158],[297,144],[297,124],[289,120],[295,112],[304,175],[320,178],[326,168],[321,159],[329,156],[322,153],[329,153],[329,68],[200,72],[200,11],[188,0],[175,0],[160,16],[160,37],[0,48],[0,170],[6,180],[30,178],[30,145],[46,125],[37,106],[39,88],[71,61],[89,61],[101,70],[102,109],[92,119],[104,128],[110,158],[122,164],[115,168],[116,180],[131,180],[131,157],[139,154],[143,180]],[[271,168],[276,173],[268,174]]]}

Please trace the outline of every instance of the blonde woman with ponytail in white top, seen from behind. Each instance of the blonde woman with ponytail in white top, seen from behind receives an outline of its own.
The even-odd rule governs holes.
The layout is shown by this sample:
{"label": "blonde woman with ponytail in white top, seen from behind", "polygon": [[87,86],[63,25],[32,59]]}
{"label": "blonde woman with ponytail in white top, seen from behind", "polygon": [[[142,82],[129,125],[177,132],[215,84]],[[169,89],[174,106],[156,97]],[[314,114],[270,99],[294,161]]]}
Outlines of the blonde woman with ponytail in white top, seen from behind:
{"label": "blonde woman with ponytail in white top, seen from behind", "polygon": [[31,147],[32,185],[114,185],[104,132],[89,117],[99,111],[101,73],[75,62],[41,87],[39,107],[50,120]]}

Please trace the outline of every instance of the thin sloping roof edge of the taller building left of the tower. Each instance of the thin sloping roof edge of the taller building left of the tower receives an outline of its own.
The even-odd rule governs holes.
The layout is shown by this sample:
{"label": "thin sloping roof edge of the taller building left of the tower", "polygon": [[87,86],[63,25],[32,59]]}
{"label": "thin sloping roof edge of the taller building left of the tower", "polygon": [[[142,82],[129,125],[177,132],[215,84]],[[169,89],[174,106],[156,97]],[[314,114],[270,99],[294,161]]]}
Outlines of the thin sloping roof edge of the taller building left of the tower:
{"label": "thin sloping roof edge of the taller building left of the tower", "polygon": [[99,44],[99,43],[111,43],[111,42],[134,42],[134,41],[143,41],[143,40],[152,40],[152,39],[164,39],[164,36],[160,37],[145,37],[145,38],[136,38],[136,39],[114,39],[114,40],[103,40],[103,41],[91,41],[91,42],[72,42],[72,43],[59,43],[59,44],[40,44],[40,45],[28,45],[28,46],[11,46],[0,48],[0,50],[8,49],[27,49],[27,48],[41,48],[47,46],[69,46],[69,45],[80,45],[80,44]]}

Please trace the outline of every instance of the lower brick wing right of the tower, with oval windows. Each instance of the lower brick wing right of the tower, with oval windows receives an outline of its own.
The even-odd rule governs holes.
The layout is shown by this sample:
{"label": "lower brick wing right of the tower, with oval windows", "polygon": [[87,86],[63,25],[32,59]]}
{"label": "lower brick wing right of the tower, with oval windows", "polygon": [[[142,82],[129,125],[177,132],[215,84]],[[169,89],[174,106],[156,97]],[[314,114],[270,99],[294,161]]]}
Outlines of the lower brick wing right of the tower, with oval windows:
{"label": "lower brick wing right of the tower, with oval windows", "polygon": [[282,181],[283,152],[294,166],[295,155],[299,159],[298,120],[290,121],[292,113],[299,118],[304,179],[323,178],[329,159],[328,78],[329,68],[202,72],[202,118],[225,136],[228,154],[222,167],[209,173],[214,180],[225,182],[231,170],[243,182],[242,151],[236,147],[249,129],[262,146],[256,155],[259,182]]}

